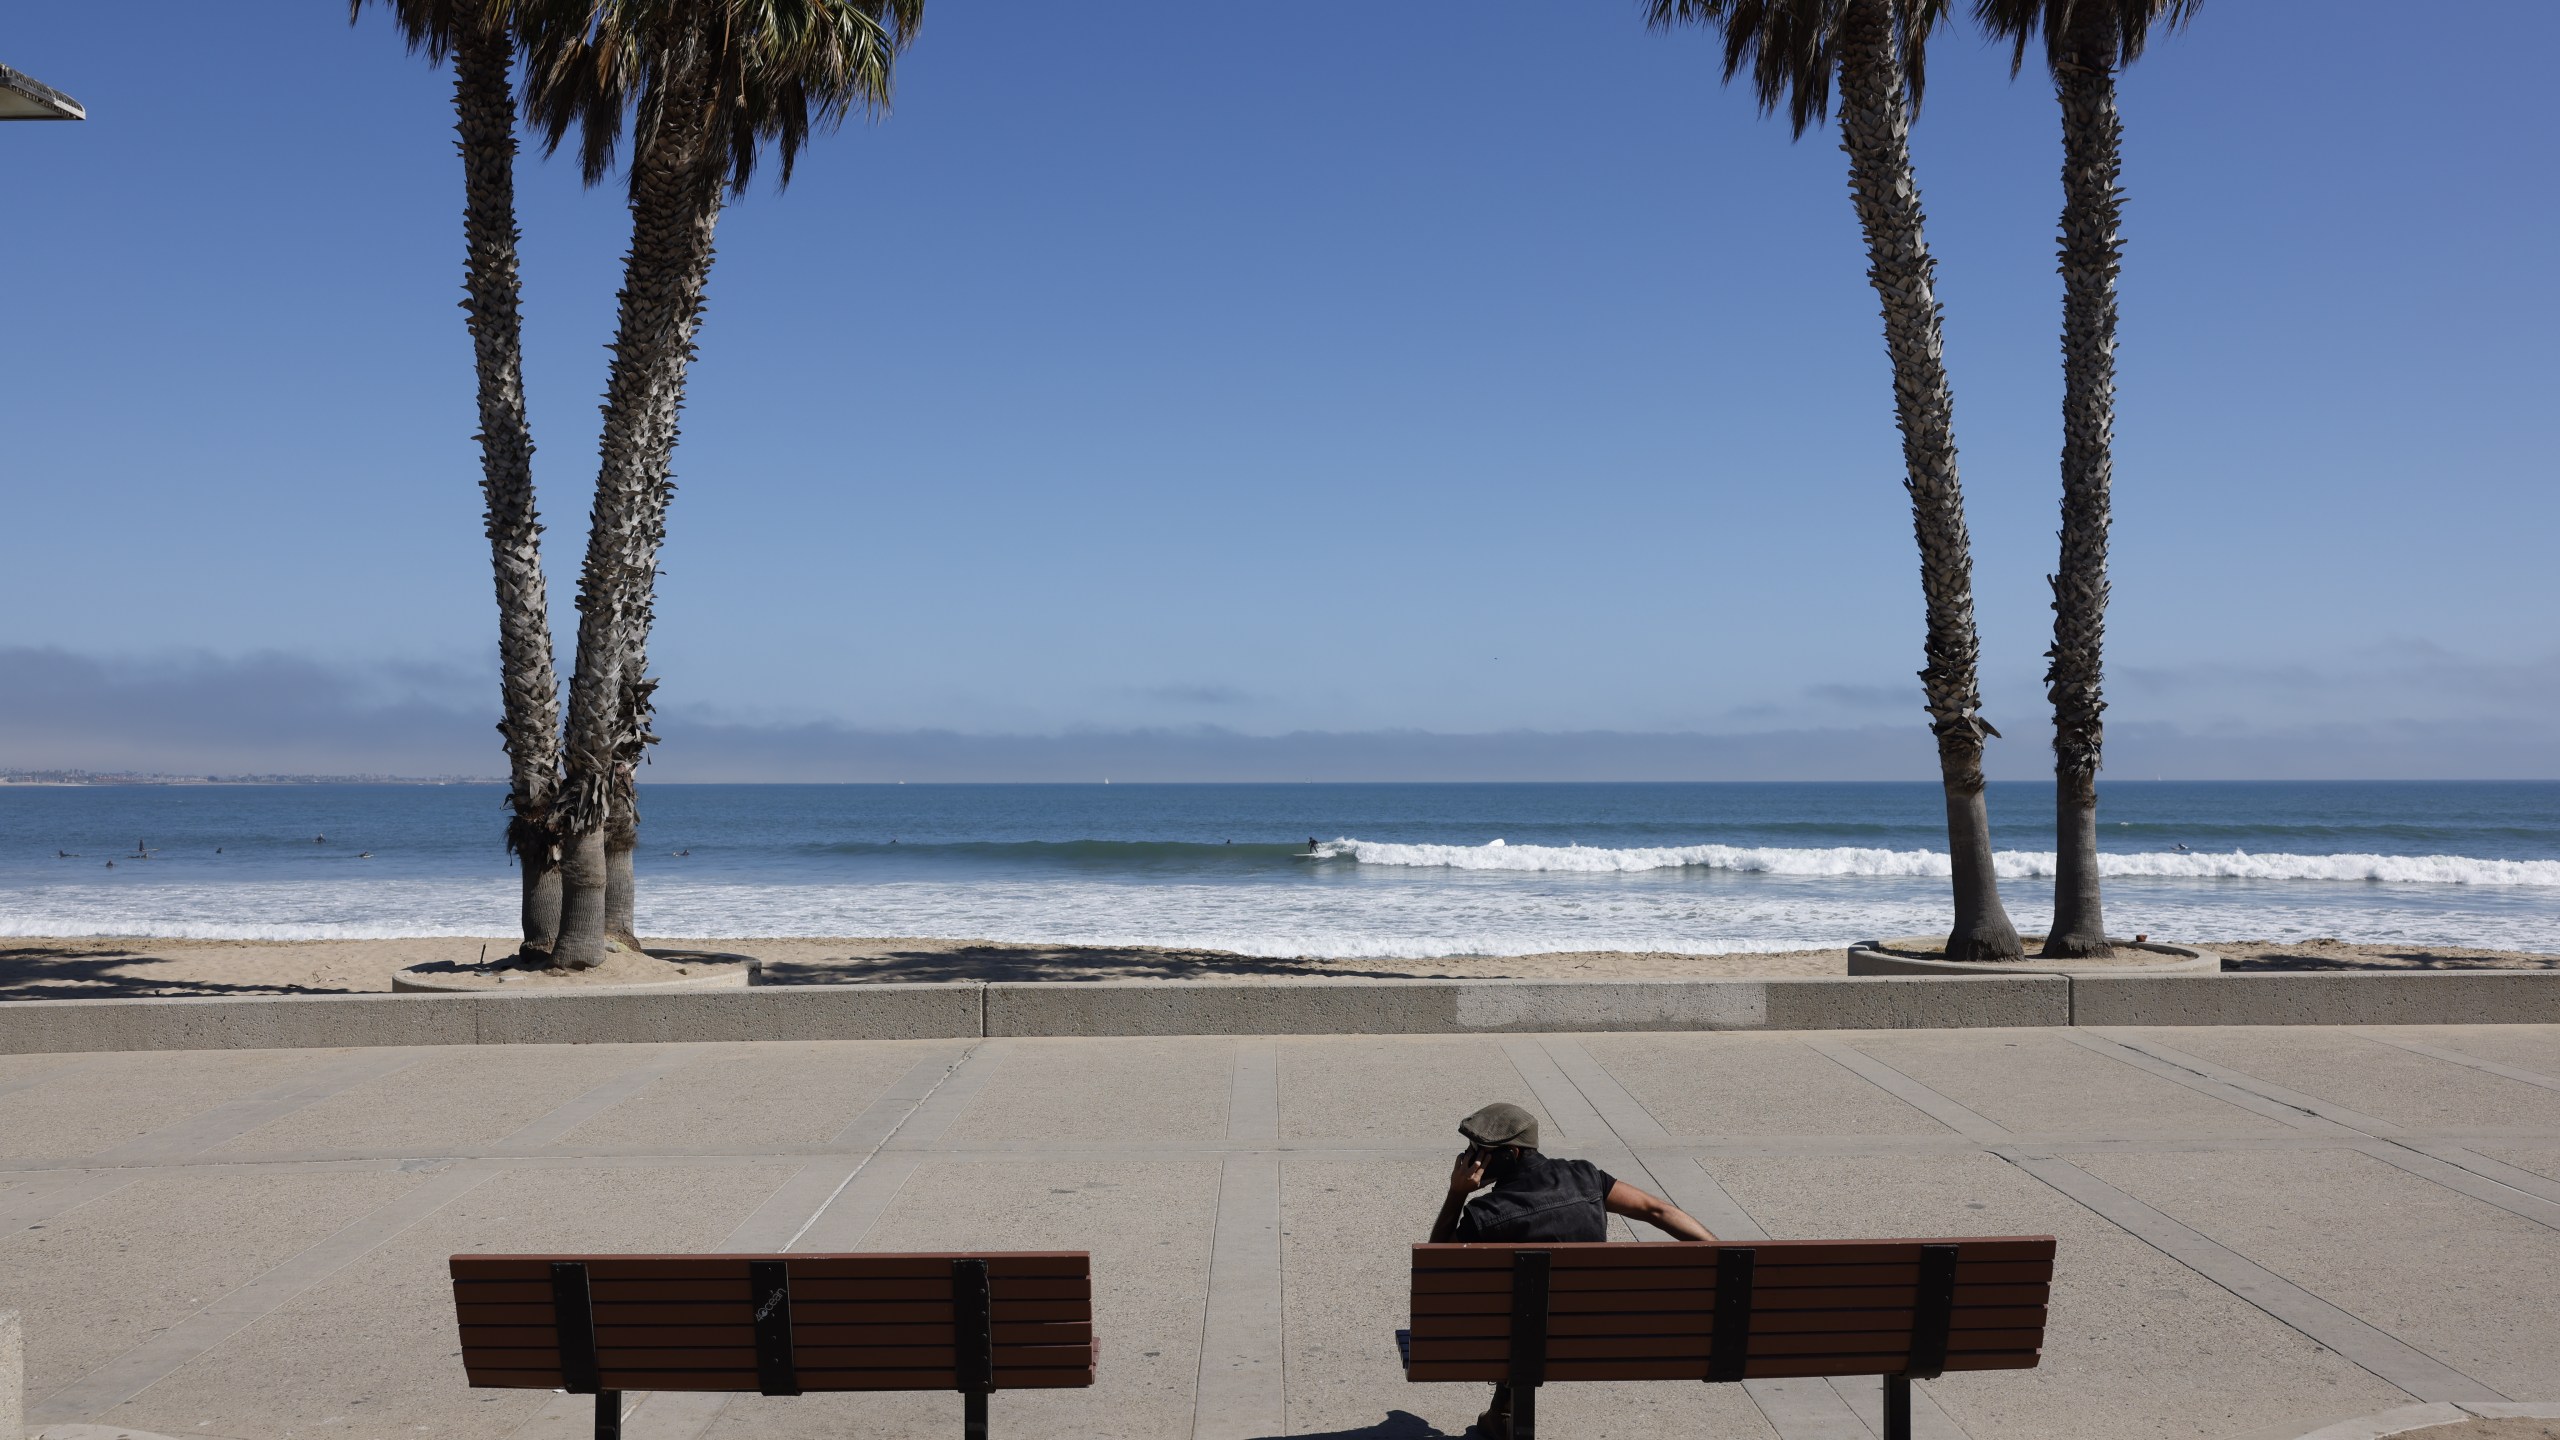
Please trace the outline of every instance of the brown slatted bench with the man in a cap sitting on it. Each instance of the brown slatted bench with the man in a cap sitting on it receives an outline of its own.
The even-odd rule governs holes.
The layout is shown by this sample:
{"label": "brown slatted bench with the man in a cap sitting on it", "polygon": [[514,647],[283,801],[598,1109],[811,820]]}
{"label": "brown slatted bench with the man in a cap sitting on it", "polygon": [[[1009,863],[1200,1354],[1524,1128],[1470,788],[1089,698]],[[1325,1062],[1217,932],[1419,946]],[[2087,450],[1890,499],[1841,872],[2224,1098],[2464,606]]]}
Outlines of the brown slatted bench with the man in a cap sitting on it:
{"label": "brown slatted bench with the man in a cap sitting on it", "polygon": [[1408,1381],[1510,1386],[1510,1440],[1546,1381],[1884,1376],[1884,1440],[1912,1381],[2025,1371],[2045,1343],[2051,1235],[1413,1245]]}

